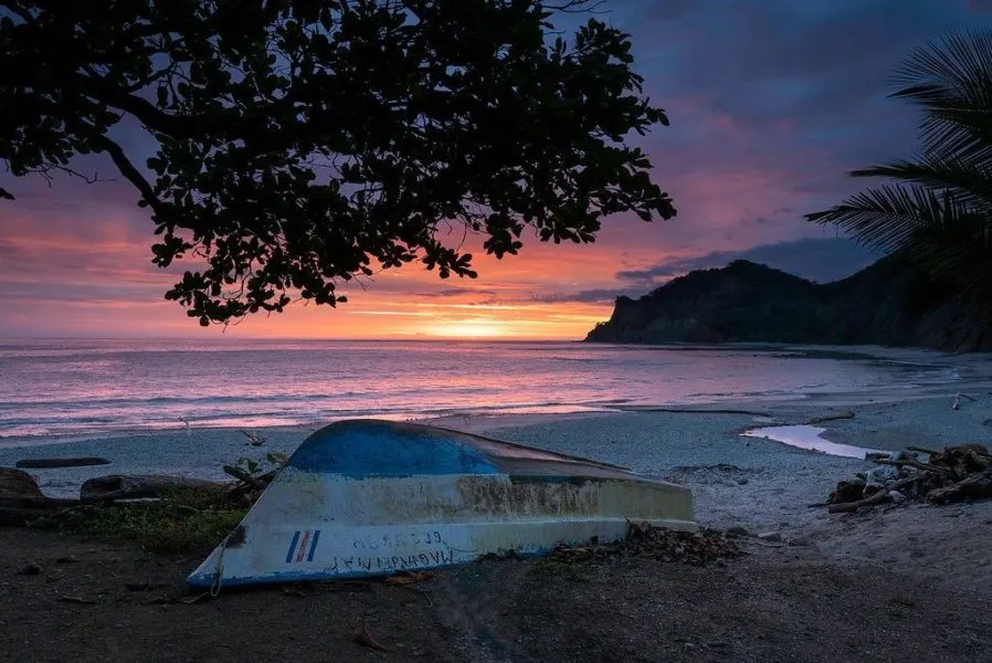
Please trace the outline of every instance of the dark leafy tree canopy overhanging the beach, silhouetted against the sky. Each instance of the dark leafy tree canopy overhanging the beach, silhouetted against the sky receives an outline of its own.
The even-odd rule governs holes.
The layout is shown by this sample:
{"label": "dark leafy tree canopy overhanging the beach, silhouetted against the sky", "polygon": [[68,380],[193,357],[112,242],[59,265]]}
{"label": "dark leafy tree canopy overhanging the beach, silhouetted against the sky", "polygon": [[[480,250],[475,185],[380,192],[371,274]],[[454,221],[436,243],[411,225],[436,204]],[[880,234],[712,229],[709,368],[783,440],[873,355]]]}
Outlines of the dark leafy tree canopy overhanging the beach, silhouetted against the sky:
{"label": "dark leafy tree canopy overhanging the beach, silhouetted against the sky", "polygon": [[152,262],[193,263],[166,298],[204,326],[335,306],[414,261],[474,277],[468,233],[503,257],[528,229],[675,215],[625,144],[668,124],[629,35],[552,23],[595,6],[0,1],[0,161],[84,177],[74,159],[105,155],[151,212]]}

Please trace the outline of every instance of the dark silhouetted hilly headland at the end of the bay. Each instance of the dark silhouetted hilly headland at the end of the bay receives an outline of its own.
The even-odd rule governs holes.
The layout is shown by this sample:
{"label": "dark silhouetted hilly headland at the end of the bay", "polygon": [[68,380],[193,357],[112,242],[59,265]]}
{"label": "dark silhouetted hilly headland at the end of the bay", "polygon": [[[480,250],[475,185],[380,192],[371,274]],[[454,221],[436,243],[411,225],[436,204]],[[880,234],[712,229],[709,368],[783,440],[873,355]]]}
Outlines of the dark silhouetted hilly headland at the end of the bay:
{"label": "dark silhouetted hilly headland at the end of the bay", "polygon": [[745,260],[618,297],[594,343],[801,343],[992,350],[988,318],[895,257],[815,284]]}

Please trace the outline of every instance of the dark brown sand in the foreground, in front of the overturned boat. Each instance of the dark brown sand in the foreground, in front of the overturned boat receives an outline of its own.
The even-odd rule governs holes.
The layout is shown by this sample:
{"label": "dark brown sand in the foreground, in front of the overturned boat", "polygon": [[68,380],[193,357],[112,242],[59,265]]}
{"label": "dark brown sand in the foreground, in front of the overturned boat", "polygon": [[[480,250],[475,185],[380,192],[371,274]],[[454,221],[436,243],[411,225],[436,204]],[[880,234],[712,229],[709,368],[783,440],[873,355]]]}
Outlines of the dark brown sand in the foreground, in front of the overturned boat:
{"label": "dark brown sand in the foreground, in front of the overturned boat", "polygon": [[[988,548],[988,524],[974,532]],[[988,585],[947,560],[931,577],[811,546],[722,567],[620,558],[483,562],[413,587],[182,591],[194,559],[0,530],[0,655],[32,662],[989,661]],[[57,562],[67,555],[78,562]],[[25,560],[43,567],[21,576]],[[150,583],[133,591],[128,583]],[[62,597],[94,601],[66,602]],[[358,625],[388,652],[356,644]]]}

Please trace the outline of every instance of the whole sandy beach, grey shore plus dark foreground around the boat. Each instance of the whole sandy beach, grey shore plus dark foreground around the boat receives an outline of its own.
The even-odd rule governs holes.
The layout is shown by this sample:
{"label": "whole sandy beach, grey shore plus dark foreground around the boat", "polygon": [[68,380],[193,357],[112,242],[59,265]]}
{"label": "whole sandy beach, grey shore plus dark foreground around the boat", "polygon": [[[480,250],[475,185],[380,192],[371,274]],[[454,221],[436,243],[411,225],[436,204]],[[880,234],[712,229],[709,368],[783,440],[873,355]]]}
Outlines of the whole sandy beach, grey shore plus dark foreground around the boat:
{"label": "whole sandy beach, grey shore plus dark foreground around the boat", "polygon": [[[140,580],[179,591],[199,559],[0,530],[4,660],[274,660],[296,646],[316,648],[308,655],[315,661],[990,660],[992,618],[973,608],[984,604],[981,588],[992,581],[992,502],[829,515],[810,505],[870,463],[741,435],[758,427],[815,423],[826,440],[866,449],[988,443],[992,390],[980,387],[970,386],[974,400],[958,410],[944,389],[861,404],[838,394],[434,421],[664,477],[692,487],[701,526],[771,535],[742,538],[748,555],[716,567],[623,559],[549,572],[536,560],[486,562],[443,571],[413,591],[245,591],[163,607],[140,603],[122,587]],[[289,451],[307,432],[266,430],[264,449]],[[155,454],[146,453],[152,448]],[[8,446],[0,449],[0,465],[32,455],[113,461],[39,471],[46,491],[70,492],[86,476],[110,472],[212,476],[211,464],[258,453],[244,446],[238,431],[193,430]],[[54,560],[66,555],[82,561],[62,565],[56,582],[17,573],[29,561],[59,566]],[[96,604],[60,602],[65,591],[95,596]],[[318,619],[325,620],[319,629]],[[89,624],[84,631],[81,621]],[[391,652],[355,644],[357,623],[368,624]],[[70,635],[52,639],[56,628]],[[253,629],[272,636],[253,635]]]}

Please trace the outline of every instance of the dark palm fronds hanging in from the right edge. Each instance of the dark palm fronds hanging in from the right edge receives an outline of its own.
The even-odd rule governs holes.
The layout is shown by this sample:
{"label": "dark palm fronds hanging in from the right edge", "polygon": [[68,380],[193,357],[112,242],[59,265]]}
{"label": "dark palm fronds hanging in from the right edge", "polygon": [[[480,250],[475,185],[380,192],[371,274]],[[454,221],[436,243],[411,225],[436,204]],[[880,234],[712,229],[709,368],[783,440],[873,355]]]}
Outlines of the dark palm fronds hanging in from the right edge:
{"label": "dark palm fronds hanging in from the right edge", "polygon": [[918,46],[895,82],[891,96],[922,110],[919,152],[851,172],[894,181],[806,219],[901,254],[985,309],[992,303],[992,33]]}

